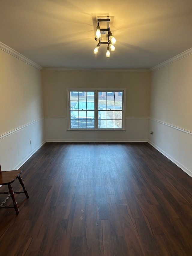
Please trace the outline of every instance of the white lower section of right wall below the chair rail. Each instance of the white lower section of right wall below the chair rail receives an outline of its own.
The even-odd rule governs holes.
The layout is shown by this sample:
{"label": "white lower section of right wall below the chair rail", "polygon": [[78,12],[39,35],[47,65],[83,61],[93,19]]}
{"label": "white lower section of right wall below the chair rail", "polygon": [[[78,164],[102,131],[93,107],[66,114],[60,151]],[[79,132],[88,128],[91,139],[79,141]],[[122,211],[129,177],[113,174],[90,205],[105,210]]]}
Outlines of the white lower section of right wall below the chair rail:
{"label": "white lower section of right wall below the chair rail", "polygon": [[149,119],[149,143],[192,177],[192,131]]}

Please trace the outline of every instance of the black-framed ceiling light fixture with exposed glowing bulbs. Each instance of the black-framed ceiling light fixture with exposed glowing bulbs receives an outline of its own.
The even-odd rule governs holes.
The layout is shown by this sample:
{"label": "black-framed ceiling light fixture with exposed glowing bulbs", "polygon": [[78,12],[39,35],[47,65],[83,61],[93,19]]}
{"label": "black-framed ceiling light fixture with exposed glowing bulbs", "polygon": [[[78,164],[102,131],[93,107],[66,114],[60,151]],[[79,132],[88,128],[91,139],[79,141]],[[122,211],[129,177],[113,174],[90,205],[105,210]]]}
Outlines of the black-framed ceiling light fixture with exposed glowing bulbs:
{"label": "black-framed ceiling light fixture with exposed glowing bulbs", "polygon": [[[110,22],[110,19],[97,19],[97,30],[95,33],[95,40],[97,41],[99,39],[99,43],[97,44],[97,46],[94,49],[94,53],[98,53],[99,47],[101,44],[107,44],[107,53],[106,53],[106,57],[110,57],[110,49],[112,52],[115,51],[115,46],[114,44],[116,44],[116,39],[114,38],[113,34],[110,31],[110,27],[108,26],[108,28],[106,29],[101,29],[99,26],[99,22]],[[108,33],[108,39],[106,39],[105,41],[101,41],[101,33],[102,34],[107,34]]]}

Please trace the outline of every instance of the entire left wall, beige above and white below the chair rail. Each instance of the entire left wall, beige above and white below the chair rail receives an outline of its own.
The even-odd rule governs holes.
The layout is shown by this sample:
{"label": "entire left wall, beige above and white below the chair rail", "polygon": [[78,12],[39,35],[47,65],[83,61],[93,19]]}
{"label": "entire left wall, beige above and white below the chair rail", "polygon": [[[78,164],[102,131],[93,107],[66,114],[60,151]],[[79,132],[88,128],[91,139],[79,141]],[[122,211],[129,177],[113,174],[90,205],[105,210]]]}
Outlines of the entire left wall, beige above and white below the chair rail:
{"label": "entire left wall, beige above and white below the chair rail", "polygon": [[45,142],[41,71],[0,50],[0,92],[0,163],[13,170]]}

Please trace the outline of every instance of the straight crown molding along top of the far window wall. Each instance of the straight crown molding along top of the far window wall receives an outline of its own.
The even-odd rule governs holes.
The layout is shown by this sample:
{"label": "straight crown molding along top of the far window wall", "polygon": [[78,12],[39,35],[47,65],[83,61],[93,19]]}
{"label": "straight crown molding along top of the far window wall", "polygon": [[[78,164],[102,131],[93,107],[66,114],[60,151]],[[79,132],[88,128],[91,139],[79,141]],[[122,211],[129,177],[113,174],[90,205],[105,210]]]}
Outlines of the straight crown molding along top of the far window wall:
{"label": "straight crown molding along top of the far window wall", "polygon": [[150,68],[43,68],[42,71],[75,71],[75,72],[150,72]]}

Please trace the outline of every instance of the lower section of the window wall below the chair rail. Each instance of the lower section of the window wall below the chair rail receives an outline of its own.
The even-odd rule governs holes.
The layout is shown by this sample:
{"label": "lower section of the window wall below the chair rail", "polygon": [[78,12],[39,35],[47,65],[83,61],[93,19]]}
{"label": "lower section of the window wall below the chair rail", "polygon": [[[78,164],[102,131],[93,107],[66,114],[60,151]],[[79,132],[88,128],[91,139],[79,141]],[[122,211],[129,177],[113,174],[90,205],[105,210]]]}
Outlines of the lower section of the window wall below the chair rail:
{"label": "lower section of the window wall below the chair rail", "polygon": [[147,141],[149,119],[126,118],[126,131],[67,131],[67,117],[45,118],[46,141]]}

